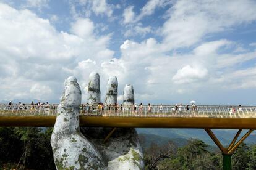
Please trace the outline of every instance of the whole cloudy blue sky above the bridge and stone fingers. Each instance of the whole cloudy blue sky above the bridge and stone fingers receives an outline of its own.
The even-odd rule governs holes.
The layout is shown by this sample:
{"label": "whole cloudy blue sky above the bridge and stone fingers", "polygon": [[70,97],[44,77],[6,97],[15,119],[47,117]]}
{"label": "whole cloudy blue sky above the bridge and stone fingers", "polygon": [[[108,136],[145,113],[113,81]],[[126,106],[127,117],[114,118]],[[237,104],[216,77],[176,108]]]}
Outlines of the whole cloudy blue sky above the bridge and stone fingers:
{"label": "whole cloudy blue sky above the bridge and stone fingers", "polygon": [[64,79],[137,103],[255,105],[256,1],[0,0],[0,100],[58,103]]}

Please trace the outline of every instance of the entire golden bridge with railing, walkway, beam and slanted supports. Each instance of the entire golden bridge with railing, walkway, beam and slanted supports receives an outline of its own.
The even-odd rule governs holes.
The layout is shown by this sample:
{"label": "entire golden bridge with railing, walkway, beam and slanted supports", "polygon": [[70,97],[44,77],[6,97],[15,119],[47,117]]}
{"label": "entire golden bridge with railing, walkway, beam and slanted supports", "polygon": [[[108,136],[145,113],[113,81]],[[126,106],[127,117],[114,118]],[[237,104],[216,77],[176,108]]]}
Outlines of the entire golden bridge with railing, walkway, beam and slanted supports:
{"label": "entire golden bridge with railing, walkway, beam and slanted supports", "polygon": [[[54,126],[58,105],[31,106],[0,104],[0,126]],[[256,129],[255,106],[225,105],[81,105],[80,126],[133,128],[205,129],[223,153],[223,168],[231,169],[234,150]],[[211,129],[238,129],[231,143],[224,147]],[[239,135],[247,129],[244,136]],[[237,139],[239,139],[237,141]]]}

